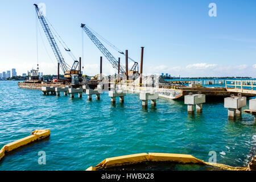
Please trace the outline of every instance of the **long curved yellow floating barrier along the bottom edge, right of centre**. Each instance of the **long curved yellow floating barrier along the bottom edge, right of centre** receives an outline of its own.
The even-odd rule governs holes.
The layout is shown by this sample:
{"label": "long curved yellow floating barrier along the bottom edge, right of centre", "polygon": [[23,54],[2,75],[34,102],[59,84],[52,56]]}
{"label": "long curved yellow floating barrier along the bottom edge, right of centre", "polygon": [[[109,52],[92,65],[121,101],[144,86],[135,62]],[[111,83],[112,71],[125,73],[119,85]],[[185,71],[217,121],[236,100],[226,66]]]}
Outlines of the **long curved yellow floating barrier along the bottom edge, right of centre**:
{"label": "long curved yellow floating barrier along the bottom edge, right of centre", "polygon": [[225,164],[207,163],[203,160],[197,159],[192,155],[186,154],[166,154],[166,153],[141,153],[117,156],[114,158],[107,158],[95,167],[89,167],[86,171],[97,171],[100,169],[108,169],[110,167],[128,166],[131,164],[139,164],[142,162],[174,162],[181,164],[201,164],[213,166],[228,171],[246,171],[247,167],[232,167]]}

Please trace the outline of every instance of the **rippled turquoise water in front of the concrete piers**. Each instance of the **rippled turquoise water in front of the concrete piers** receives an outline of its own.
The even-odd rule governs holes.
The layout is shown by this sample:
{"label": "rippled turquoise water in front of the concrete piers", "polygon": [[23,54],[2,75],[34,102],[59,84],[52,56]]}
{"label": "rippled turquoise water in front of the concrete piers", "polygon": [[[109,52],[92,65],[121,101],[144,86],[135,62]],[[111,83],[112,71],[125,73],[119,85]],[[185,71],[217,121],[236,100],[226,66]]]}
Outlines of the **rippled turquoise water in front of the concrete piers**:
{"label": "rippled turquoise water in front of the concrete piers", "polygon": [[[188,115],[182,100],[159,98],[155,109],[142,109],[137,94],[113,106],[108,93],[88,101],[85,94],[43,96],[20,89],[17,81],[0,81],[0,88],[0,147],[35,129],[51,130],[49,139],[6,155],[0,170],[84,170],[105,158],[140,152],[191,154],[208,162],[209,151],[216,151],[217,163],[245,166],[256,144],[253,117],[243,113],[229,121],[222,100]],[[38,164],[39,151],[46,152],[46,165]]]}

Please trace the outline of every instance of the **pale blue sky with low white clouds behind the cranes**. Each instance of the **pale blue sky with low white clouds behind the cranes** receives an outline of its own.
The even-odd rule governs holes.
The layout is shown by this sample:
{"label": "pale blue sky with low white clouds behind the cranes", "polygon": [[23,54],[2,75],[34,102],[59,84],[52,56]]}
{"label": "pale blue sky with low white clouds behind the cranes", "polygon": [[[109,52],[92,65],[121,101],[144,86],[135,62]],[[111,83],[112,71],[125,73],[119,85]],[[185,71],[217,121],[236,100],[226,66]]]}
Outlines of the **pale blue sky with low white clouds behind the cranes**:
{"label": "pale blue sky with low white clouds behind the cranes", "polygon": [[[208,15],[212,2],[217,5],[217,17]],[[45,3],[47,19],[77,59],[82,55],[80,24],[85,23],[119,49],[128,49],[138,62],[144,46],[145,73],[256,77],[256,1],[248,0],[4,1],[0,6],[0,72],[16,68],[21,75],[36,68],[34,3]],[[56,74],[57,61],[39,27],[43,37],[38,34],[40,71]],[[106,47],[125,63],[125,57]],[[84,34],[86,75],[99,72],[100,56]],[[103,72],[115,72],[105,57]]]}

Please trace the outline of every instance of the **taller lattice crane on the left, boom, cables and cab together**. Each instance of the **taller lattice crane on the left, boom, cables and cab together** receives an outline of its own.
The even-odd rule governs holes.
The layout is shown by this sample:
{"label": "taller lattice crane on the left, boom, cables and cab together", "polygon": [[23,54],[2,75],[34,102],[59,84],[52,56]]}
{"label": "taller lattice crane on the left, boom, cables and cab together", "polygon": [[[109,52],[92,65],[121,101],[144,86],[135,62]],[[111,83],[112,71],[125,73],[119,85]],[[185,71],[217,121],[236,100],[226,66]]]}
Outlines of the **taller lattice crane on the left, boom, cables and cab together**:
{"label": "taller lattice crane on the left, boom, cables and cab together", "polygon": [[[40,12],[40,10],[38,8],[38,5],[34,4],[34,6],[35,6],[36,14],[38,15],[38,19],[39,19],[39,21],[40,21],[40,23],[41,23],[41,25],[43,27],[44,32],[46,33],[47,39],[49,41],[49,44],[51,45],[52,51],[55,54],[55,57],[56,57],[58,63],[60,63],[60,67],[61,67],[61,69],[62,69],[62,71],[64,73],[64,77],[67,78],[69,81],[71,81],[72,75],[79,75],[81,77],[82,76],[81,75],[81,68],[79,68],[79,70],[77,69],[77,67],[79,65],[79,61],[76,60],[75,56],[71,52],[71,49],[69,49],[67,47],[67,45],[65,45],[66,47],[64,47],[64,45],[63,45],[64,42],[63,42],[63,40],[59,36],[59,38],[63,42],[63,43],[61,43],[60,40],[59,40],[60,44],[64,47],[65,51],[67,51],[69,53],[69,55],[72,57],[72,59],[74,60],[74,63],[72,65],[72,67],[70,67],[67,63],[65,63],[64,58],[61,55],[60,49],[57,46],[57,43],[56,43],[56,41],[55,41],[55,39],[53,37],[54,32],[52,34],[52,31],[49,28],[48,23],[47,23],[48,21],[46,20],[44,15]],[[54,28],[53,28],[53,30],[56,32],[56,30]],[[57,34],[57,32],[56,32],[56,34]],[[56,35],[55,35],[55,37],[57,38]],[[59,39],[59,38],[57,38],[57,39]]]}

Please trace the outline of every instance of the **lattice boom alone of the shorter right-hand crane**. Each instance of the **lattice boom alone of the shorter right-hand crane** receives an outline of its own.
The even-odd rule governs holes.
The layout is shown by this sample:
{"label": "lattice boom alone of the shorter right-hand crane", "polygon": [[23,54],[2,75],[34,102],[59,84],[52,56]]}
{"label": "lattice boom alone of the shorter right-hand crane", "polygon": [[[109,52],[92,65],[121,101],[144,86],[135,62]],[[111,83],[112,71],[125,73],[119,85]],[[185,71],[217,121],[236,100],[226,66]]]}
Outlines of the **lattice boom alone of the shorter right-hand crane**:
{"label": "lattice boom alone of the shorter right-hand crane", "polygon": [[[85,26],[85,24],[81,24],[81,27],[85,31],[85,33],[89,36],[90,40],[96,45],[98,49],[103,53],[106,59],[112,64],[113,68],[118,69],[118,61],[114,58],[114,56],[106,49],[105,46],[96,38],[96,36]],[[120,72],[125,73],[125,70],[120,67]]]}

